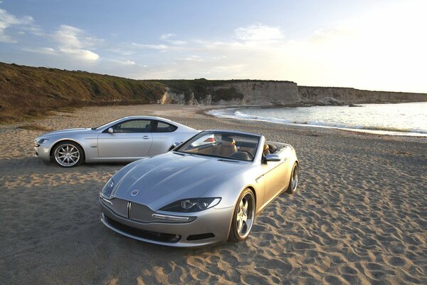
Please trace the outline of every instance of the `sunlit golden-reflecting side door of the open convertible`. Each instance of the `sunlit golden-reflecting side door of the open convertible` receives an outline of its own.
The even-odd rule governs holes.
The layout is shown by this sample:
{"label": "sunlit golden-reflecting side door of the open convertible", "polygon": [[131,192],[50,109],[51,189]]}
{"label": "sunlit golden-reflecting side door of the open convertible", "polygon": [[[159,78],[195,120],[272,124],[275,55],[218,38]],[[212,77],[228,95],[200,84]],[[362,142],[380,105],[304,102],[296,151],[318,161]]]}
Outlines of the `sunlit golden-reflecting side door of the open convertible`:
{"label": "sunlit golden-reflecting side door of the open convertible", "polygon": [[265,162],[263,171],[265,179],[264,201],[267,202],[286,186],[286,160]]}

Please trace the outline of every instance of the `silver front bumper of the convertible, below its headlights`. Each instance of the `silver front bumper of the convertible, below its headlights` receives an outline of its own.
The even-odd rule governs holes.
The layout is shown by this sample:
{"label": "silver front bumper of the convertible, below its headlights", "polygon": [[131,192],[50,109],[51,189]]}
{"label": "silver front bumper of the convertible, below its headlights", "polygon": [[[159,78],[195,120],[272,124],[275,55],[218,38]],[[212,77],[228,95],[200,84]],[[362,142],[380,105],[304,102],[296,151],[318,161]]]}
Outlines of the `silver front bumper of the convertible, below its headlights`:
{"label": "silver front bumper of the convertible, below its headlights", "polygon": [[[115,213],[101,197],[99,202],[101,221],[106,227],[132,239],[171,247],[201,247],[226,242],[233,216],[233,207],[213,207],[201,212],[180,213],[181,216],[195,218],[191,222],[162,222],[161,219],[159,222],[137,222]],[[178,216],[176,213],[158,213]]]}

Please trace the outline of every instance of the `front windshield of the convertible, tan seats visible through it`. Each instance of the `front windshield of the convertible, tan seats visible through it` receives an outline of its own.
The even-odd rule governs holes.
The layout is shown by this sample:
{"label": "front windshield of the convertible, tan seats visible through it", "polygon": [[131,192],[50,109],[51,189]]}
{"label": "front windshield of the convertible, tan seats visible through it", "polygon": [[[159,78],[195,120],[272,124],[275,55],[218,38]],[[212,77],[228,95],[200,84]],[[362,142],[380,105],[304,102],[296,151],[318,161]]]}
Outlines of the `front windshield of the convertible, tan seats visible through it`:
{"label": "front windshield of the convertible, tan seats visible through it", "polygon": [[206,131],[179,146],[175,151],[224,157],[232,160],[253,161],[260,137],[257,135],[243,135]]}

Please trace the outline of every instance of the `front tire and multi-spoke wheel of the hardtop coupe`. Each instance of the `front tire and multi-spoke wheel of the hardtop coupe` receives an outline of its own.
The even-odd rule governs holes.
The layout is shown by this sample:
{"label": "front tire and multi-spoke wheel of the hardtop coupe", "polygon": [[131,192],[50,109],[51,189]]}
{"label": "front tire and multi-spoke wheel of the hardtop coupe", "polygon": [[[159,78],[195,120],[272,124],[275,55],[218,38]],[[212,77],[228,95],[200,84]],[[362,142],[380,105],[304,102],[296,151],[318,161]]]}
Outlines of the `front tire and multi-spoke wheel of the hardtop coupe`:
{"label": "front tire and multi-spoke wheel of the hardtop coupe", "polygon": [[85,160],[83,148],[76,142],[64,141],[55,145],[52,151],[53,161],[62,167],[75,167]]}

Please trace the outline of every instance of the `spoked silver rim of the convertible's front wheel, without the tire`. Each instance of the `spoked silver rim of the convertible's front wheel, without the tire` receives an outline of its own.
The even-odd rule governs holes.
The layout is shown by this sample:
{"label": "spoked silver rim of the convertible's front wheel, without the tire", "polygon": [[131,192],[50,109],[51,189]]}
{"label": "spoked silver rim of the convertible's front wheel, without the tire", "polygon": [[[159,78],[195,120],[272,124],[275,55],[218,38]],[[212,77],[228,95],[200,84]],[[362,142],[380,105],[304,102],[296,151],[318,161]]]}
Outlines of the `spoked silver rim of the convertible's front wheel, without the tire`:
{"label": "spoked silver rim of the convertible's front wheel, without the tire", "polygon": [[236,229],[238,235],[243,238],[251,231],[254,216],[254,200],[251,193],[246,194],[238,204],[236,215]]}

